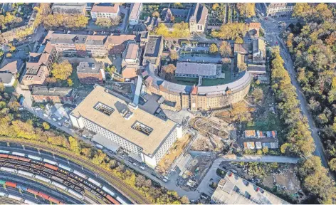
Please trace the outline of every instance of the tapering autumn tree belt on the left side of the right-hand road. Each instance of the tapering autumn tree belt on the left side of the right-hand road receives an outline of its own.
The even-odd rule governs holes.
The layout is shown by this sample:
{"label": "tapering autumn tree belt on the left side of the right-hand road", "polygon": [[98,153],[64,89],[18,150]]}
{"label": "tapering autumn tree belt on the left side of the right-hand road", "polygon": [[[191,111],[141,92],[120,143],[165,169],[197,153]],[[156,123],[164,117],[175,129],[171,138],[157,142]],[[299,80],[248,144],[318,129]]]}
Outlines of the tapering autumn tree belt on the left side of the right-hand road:
{"label": "tapering autumn tree belt on the left side of the right-hand road", "polygon": [[284,130],[287,142],[282,145],[281,152],[310,155],[315,150],[313,137],[308,130],[307,120],[300,113],[298,95],[283,67],[283,58],[278,47],[272,51],[271,70],[272,89],[278,102],[280,118],[287,127]]}

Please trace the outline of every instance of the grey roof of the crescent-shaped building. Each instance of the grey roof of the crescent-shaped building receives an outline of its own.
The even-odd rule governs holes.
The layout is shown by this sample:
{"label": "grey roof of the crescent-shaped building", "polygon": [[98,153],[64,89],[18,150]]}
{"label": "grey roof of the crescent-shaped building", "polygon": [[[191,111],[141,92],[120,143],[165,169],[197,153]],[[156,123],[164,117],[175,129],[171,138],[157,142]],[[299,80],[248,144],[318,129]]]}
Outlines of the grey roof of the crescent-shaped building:
{"label": "grey roof of the crescent-shaped building", "polygon": [[[145,82],[160,90],[167,90],[173,93],[189,94],[193,88],[192,85],[182,85],[178,83],[172,83],[155,75],[155,66],[149,63],[145,68],[146,71],[142,74],[142,77],[147,75]],[[251,82],[252,76],[248,71],[241,73],[241,75],[233,82],[223,85],[214,86],[198,86],[197,94],[199,95],[220,95],[226,93],[226,90],[231,90],[232,93],[236,93],[243,88],[246,88]]]}

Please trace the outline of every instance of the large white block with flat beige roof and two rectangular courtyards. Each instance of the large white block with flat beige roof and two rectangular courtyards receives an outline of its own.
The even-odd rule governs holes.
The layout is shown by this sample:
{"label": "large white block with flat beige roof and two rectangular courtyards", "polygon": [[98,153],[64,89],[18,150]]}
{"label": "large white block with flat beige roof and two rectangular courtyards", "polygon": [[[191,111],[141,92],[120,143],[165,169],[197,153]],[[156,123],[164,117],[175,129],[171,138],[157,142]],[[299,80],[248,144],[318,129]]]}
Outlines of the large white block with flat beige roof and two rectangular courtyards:
{"label": "large white block with flat beige roof and two rectangular courtyards", "polygon": [[[87,129],[130,152],[149,167],[156,167],[172,144],[182,137],[182,127],[137,108],[109,93],[100,85],[80,102],[70,120],[74,127]],[[107,147],[107,144],[103,144]]]}

